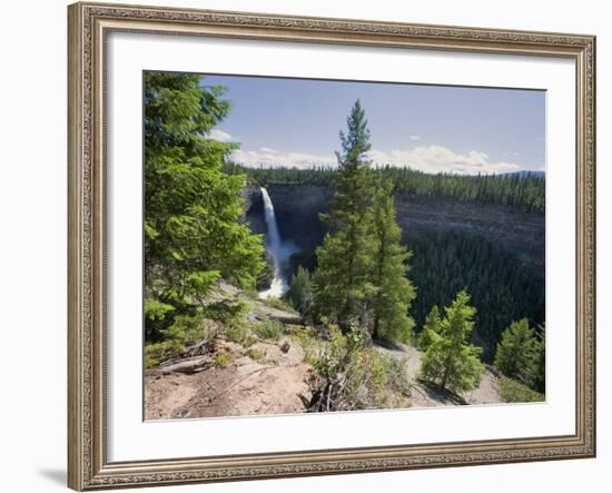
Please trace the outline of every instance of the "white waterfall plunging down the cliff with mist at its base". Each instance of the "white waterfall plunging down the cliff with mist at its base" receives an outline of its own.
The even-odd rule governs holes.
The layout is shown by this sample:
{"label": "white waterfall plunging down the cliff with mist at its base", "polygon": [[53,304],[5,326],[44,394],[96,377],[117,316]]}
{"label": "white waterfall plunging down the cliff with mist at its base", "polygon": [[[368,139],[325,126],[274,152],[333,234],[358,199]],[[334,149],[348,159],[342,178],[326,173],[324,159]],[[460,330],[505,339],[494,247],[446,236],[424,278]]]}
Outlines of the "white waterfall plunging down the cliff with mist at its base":
{"label": "white waterfall plunging down the cliff with mist at its base", "polygon": [[283,241],[278,233],[278,223],[274,213],[268,190],[261,187],[261,199],[264,201],[264,220],[268,230],[266,235],[266,249],[273,259],[273,280],[270,287],[259,293],[259,297],[279,298],[289,290],[288,262],[296,252],[295,245],[290,241]]}

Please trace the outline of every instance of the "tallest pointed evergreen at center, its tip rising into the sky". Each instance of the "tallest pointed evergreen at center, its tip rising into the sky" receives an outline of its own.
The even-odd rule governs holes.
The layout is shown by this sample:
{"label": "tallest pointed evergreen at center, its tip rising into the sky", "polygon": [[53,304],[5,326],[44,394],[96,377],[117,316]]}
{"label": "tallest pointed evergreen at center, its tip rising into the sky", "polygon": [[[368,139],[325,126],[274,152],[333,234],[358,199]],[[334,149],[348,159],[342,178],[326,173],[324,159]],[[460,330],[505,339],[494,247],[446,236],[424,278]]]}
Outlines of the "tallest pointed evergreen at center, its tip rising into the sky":
{"label": "tallest pointed evergreen at center, its tip rising into the sky", "polygon": [[366,152],[369,130],[359,100],[347,119],[348,132],[340,131],[342,151],[336,152],[338,174],[329,214],[323,219],[329,233],[317,248],[314,275],[319,315],[337,322],[344,331],[352,323],[367,325],[367,299],[373,292],[372,184]]}

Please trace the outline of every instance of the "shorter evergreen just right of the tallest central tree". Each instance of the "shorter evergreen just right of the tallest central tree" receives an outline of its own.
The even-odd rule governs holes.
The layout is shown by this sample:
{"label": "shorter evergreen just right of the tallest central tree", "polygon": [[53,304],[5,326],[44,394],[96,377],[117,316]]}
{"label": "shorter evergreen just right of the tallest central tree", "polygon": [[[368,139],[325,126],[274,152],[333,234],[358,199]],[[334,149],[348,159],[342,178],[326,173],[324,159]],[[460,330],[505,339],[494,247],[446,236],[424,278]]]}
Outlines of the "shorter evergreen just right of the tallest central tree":
{"label": "shorter evergreen just right of the tallest central tree", "polygon": [[406,277],[411,254],[399,243],[402,229],[395,219],[392,183],[376,183],[373,207],[373,236],[375,240],[373,263],[373,338],[407,342],[414,321],[408,309],[416,289]]}

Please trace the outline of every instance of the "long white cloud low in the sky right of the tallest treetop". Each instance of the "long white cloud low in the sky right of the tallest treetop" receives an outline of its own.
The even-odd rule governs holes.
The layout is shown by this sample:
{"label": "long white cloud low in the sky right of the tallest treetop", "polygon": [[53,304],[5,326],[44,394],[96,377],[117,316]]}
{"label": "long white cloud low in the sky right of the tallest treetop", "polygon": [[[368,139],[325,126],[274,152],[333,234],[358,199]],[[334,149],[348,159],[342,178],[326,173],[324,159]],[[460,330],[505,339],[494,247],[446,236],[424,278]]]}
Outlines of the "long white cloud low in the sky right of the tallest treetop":
{"label": "long white cloud low in the sky right of the tallest treetop", "polygon": [[377,165],[408,167],[425,172],[457,172],[462,175],[488,175],[523,169],[516,162],[491,161],[485,152],[471,150],[457,154],[443,146],[418,146],[391,152],[371,150],[369,159]]}

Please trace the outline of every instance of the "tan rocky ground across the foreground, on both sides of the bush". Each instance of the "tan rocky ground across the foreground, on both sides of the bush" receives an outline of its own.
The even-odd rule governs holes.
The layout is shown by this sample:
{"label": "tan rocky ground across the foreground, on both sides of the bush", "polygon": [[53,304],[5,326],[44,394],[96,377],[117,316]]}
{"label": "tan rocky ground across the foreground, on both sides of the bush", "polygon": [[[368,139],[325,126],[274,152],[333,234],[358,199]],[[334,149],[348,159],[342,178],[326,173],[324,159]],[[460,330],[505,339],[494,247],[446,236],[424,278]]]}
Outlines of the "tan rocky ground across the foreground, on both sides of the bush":
{"label": "tan rocky ground across the foreground, on both sides of the bush", "polygon": [[[229,285],[221,286],[223,296],[238,296]],[[299,316],[293,310],[272,307],[253,300],[246,318],[253,323],[277,319],[292,324],[295,331]],[[465,404],[496,404],[499,377],[487,368],[477,388],[461,395],[442,393],[418,379],[422,354],[408,345],[377,351],[407,359],[412,407]],[[285,335],[278,341],[258,338],[243,344],[220,336],[215,354],[177,358],[150,368],[145,374],[145,418],[197,418],[305,412],[310,398],[308,376],[312,365],[305,357],[299,338]]]}

